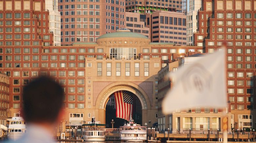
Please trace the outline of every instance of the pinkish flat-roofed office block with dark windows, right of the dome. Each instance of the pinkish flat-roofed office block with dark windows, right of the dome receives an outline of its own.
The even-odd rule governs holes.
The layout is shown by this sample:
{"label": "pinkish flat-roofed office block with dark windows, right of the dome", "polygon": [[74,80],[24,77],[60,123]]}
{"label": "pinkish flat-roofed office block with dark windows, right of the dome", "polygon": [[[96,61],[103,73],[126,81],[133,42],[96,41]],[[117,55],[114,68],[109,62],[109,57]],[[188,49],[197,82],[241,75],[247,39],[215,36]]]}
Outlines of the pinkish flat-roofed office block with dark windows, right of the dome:
{"label": "pinkish flat-roofed office block with dark windows, right of the dome", "polygon": [[152,42],[186,45],[186,15],[182,12],[154,11],[148,13],[147,27]]}

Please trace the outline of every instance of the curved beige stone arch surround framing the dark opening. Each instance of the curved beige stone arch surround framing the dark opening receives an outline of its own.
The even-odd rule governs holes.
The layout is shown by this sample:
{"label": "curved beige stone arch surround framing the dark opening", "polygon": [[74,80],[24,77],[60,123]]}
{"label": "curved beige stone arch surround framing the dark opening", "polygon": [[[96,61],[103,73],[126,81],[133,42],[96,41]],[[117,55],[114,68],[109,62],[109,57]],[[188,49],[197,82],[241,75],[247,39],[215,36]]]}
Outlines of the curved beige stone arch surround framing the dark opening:
{"label": "curved beige stone arch surround framing the dark opening", "polygon": [[[139,87],[138,85],[132,83],[132,82],[115,82],[112,83],[105,88],[101,90],[99,93],[95,107],[98,109],[99,115],[104,115],[104,117],[101,117],[102,120],[105,122],[105,107],[106,103],[108,102],[109,97],[116,91],[119,90],[127,90],[132,93],[134,93],[140,100],[141,106],[142,106],[142,123],[146,123],[150,116],[150,110],[151,110],[151,103],[149,100],[148,95],[146,92]],[[99,116],[100,117],[100,116]]]}

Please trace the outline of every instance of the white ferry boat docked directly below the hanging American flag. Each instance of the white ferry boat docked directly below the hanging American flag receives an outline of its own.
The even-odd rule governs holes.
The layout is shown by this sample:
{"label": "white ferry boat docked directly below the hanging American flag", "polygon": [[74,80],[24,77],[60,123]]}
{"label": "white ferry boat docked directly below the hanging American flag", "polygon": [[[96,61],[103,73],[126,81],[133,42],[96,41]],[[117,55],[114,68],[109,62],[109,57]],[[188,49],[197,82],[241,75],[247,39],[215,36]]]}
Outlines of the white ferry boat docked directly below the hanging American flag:
{"label": "white ferry boat docked directly below the hanging American flag", "polygon": [[147,140],[147,127],[134,123],[130,118],[129,123],[120,126],[120,140],[122,142],[143,142]]}

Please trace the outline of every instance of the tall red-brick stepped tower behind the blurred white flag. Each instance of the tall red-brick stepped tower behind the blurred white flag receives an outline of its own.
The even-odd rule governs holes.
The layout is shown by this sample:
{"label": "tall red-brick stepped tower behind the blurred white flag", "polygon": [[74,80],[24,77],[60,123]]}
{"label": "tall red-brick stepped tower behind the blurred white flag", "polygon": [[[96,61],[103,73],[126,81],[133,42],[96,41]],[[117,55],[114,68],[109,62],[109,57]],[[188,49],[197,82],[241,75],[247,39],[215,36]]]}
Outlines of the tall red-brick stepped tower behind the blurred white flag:
{"label": "tall red-brick stepped tower behind the blurred white flag", "polygon": [[256,127],[256,1],[203,0],[195,45],[205,53],[227,45],[226,68],[231,127]]}

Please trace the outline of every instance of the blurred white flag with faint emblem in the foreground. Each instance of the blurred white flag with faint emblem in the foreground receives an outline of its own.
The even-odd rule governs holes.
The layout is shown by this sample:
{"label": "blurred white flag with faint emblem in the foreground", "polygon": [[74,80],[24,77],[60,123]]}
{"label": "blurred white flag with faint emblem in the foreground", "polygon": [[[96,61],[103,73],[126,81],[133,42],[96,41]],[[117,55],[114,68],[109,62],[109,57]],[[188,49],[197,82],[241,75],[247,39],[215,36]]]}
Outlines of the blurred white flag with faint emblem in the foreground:
{"label": "blurred white flag with faint emblem in the foreground", "polygon": [[205,55],[171,73],[174,88],[163,100],[164,114],[188,107],[227,107],[224,50]]}

